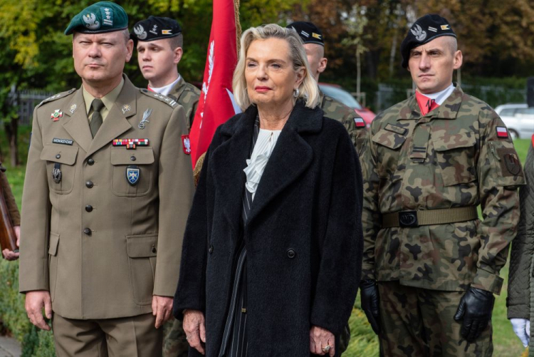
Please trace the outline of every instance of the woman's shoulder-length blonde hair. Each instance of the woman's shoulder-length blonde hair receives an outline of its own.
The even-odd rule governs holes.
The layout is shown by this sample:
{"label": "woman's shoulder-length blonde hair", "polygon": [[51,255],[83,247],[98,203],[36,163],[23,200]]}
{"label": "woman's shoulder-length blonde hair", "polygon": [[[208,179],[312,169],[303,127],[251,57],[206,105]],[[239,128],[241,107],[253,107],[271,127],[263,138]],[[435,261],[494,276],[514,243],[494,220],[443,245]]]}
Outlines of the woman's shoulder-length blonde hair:
{"label": "woman's shoulder-length blonde hair", "polygon": [[288,42],[289,56],[293,61],[293,70],[298,71],[299,68],[305,68],[304,80],[298,87],[299,93],[297,99],[302,98],[305,100],[305,105],[308,108],[315,108],[319,100],[319,89],[315,78],[311,75],[310,65],[308,64],[308,58],[306,57],[306,51],[302,40],[300,39],[300,36],[298,36],[297,31],[293,29],[284,29],[276,24],[251,27],[241,36],[239,61],[237,62],[236,71],[234,71],[234,79],[232,81],[236,103],[241,110],[246,110],[246,108],[252,104],[250,98],[248,98],[248,92],[246,90],[246,53],[253,41],[266,40],[268,38],[281,38]]}

